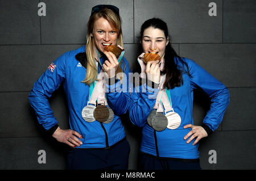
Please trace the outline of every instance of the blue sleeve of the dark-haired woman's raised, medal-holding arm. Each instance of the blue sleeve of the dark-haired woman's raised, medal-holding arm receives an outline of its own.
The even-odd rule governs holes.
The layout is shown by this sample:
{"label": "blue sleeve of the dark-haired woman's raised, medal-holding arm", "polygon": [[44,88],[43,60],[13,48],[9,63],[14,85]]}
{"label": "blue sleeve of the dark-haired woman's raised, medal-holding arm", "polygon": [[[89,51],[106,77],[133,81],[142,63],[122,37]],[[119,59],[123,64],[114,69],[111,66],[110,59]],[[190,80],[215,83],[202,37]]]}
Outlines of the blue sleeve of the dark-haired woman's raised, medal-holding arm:
{"label": "blue sleeve of the dark-haired woman's raised, medal-holding arm", "polygon": [[134,87],[130,96],[129,116],[134,125],[143,127],[147,123],[147,117],[155,106],[158,89],[147,86]]}

